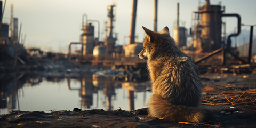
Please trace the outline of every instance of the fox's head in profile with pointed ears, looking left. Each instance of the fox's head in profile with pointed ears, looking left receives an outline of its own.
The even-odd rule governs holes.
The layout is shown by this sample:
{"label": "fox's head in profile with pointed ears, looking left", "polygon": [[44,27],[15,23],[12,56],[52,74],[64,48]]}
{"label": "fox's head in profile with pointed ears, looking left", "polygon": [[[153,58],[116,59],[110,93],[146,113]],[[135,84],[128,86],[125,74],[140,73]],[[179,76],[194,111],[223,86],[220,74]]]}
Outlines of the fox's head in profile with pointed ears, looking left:
{"label": "fox's head in profile with pointed ears, looking left", "polygon": [[150,53],[153,53],[157,45],[159,45],[159,42],[161,42],[161,39],[162,39],[161,35],[167,34],[168,36],[170,36],[170,33],[169,33],[168,27],[164,27],[160,33],[151,31],[143,26],[142,28],[145,31],[147,36],[143,41],[143,49],[138,55],[140,59],[147,60],[151,55]]}

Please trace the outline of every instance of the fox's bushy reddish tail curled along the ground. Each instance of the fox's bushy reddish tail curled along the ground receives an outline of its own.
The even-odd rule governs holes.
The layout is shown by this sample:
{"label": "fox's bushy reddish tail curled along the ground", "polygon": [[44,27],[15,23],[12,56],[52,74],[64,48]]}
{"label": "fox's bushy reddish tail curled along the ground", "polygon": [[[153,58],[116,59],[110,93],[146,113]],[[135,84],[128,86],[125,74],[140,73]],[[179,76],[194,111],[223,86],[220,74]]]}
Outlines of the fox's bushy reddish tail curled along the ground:
{"label": "fox's bushy reddish tail curled along the ground", "polygon": [[206,118],[205,110],[201,108],[173,105],[158,95],[153,94],[149,101],[150,116],[163,118],[171,122],[203,122]]}

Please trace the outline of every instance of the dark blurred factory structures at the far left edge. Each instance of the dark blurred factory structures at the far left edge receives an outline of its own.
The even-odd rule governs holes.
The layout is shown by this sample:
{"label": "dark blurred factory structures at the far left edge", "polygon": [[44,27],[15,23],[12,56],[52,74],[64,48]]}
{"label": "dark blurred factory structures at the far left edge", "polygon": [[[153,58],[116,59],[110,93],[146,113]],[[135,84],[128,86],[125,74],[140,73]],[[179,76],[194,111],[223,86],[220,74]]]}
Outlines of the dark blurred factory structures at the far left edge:
{"label": "dark blurred factory structures at the far left edge", "polygon": [[[0,1],[0,13],[3,13],[2,1]],[[11,5],[10,22],[3,21],[3,17],[1,17],[0,29],[0,60],[6,62],[2,64],[8,65],[8,67],[13,64],[16,67],[17,63],[25,65],[24,60],[26,60],[28,53],[23,44],[26,35],[21,36],[21,24],[19,26],[18,18],[13,17],[13,5]],[[11,60],[11,63],[9,63],[9,60]]]}

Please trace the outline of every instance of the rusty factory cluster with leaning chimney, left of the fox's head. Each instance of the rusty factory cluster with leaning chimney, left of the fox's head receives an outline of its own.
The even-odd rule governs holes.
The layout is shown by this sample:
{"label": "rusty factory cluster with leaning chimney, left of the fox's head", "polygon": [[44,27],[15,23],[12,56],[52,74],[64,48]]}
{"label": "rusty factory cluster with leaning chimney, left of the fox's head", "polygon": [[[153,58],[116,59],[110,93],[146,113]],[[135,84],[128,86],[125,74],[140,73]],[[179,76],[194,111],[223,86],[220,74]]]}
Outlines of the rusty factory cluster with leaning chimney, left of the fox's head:
{"label": "rusty factory cluster with leaning chimney, left of the fox's head", "polygon": [[[115,5],[108,6],[108,26],[106,26],[106,37],[105,41],[99,41],[99,21],[90,20],[87,15],[83,15],[81,41],[80,42],[70,42],[68,45],[68,58],[70,60],[78,60],[80,62],[89,63],[114,63],[117,60],[122,60],[121,57],[127,57],[129,60],[139,60],[137,58],[138,53],[142,50],[142,43],[134,42],[135,35],[135,14],[136,14],[136,4],[133,4],[133,16],[131,20],[131,32],[129,38],[129,44],[126,46],[116,45],[116,36],[114,33],[114,21],[115,21]],[[85,22],[84,22],[85,20]],[[94,26],[92,22],[98,23],[98,38],[94,37]],[[81,49],[71,50],[71,45],[80,45]],[[125,60],[126,60],[125,59]],[[124,59],[123,59],[124,61]]]}

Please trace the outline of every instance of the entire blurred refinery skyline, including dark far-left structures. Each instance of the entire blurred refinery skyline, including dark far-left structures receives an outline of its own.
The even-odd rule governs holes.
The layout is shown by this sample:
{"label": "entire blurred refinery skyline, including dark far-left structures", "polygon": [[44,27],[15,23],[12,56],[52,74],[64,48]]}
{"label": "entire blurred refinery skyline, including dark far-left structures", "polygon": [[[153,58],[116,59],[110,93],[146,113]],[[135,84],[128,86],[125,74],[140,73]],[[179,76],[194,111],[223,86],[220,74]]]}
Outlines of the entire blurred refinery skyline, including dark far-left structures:
{"label": "entire blurred refinery skyline, including dark far-left structures", "polygon": [[[157,31],[157,0],[154,0],[154,31]],[[1,1],[2,4],[2,1]],[[192,12],[191,26],[185,27],[185,23],[179,18],[180,5],[177,3],[177,15],[174,15],[177,20],[173,22],[173,35],[171,35],[182,52],[195,61],[198,65],[206,65],[205,68],[213,65],[247,65],[252,60],[252,35],[253,26],[251,26],[250,42],[246,50],[243,49],[243,54],[239,55],[237,47],[231,42],[232,37],[236,37],[241,32],[241,17],[237,13],[225,13],[225,6],[220,4],[213,5],[210,0],[206,0],[203,5],[198,6],[198,10]],[[1,5],[2,7],[2,5]],[[125,70],[145,69],[146,61],[138,58],[138,53],[143,49],[142,42],[135,42],[135,25],[137,15],[137,0],[132,1],[131,23],[129,30],[129,43],[127,45],[117,45],[118,29],[115,28],[116,5],[107,6],[105,26],[100,26],[100,21],[97,19],[90,19],[87,14],[82,17],[82,33],[77,35],[79,37],[74,42],[68,44],[68,54],[54,54],[47,52],[47,58],[63,58],[79,63],[92,63],[92,65],[113,66],[117,69]],[[11,7],[12,9],[12,7]],[[233,17],[237,19],[236,32],[230,35],[226,33],[226,23],[222,18]],[[14,67],[17,63],[26,65],[29,59],[27,55],[39,54],[43,52],[38,48],[25,49],[23,44],[25,37],[18,33],[18,18],[13,18],[13,11],[11,10],[11,19],[9,23],[1,22],[1,59],[5,60],[7,57],[14,59]],[[98,30],[95,30],[98,28]],[[106,34],[101,40],[101,29],[104,29]],[[114,29],[115,28],[115,29]],[[23,39],[22,39],[23,38]],[[76,49],[74,49],[76,45]],[[244,52],[247,54],[244,55]],[[250,65],[251,66],[251,65]],[[202,66],[204,67],[204,66]],[[239,67],[239,66],[238,66]],[[142,69],[142,70],[143,70]]]}

